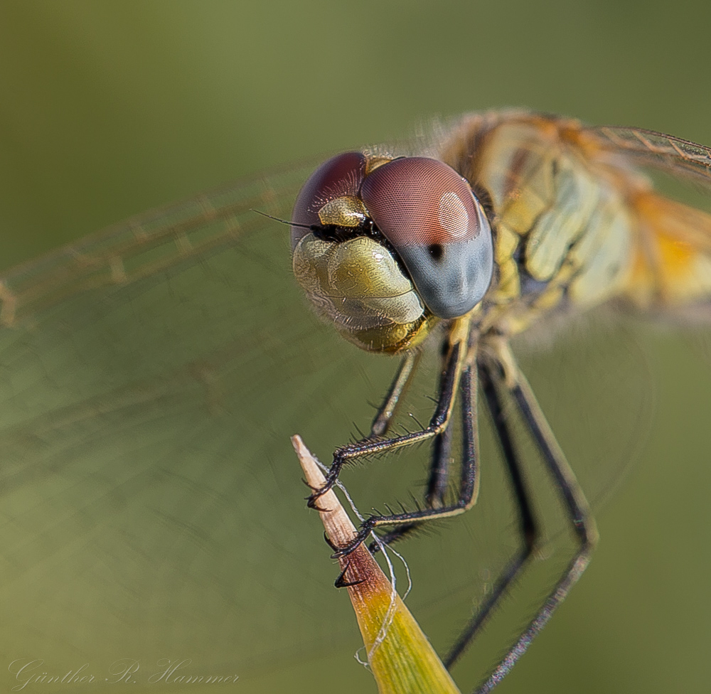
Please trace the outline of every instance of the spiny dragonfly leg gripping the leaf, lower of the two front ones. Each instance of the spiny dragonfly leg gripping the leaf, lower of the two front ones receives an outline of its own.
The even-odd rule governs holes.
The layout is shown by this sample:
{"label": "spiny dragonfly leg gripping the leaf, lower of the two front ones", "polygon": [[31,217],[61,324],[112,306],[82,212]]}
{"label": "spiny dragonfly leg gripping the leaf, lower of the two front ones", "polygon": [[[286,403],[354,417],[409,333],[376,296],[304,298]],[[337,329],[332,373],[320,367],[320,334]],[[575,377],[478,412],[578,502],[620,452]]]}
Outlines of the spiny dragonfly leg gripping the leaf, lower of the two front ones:
{"label": "spiny dragonfly leg gripping the leaf, lower of the two front ones", "polygon": [[[448,390],[448,388],[445,390]],[[462,427],[461,478],[459,481],[459,495],[456,501],[449,506],[445,505],[439,508],[418,508],[417,511],[392,513],[389,516],[370,516],[360,526],[355,539],[336,551],[333,557],[343,557],[353,552],[379,525],[412,526],[437,518],[458,516],[468,508],[471,508],[476,502],[476,495],[479,489],[476,370],[471,364],[466,364],[461,372],[459,390],[461,390],[461,412],[464,426]]]}

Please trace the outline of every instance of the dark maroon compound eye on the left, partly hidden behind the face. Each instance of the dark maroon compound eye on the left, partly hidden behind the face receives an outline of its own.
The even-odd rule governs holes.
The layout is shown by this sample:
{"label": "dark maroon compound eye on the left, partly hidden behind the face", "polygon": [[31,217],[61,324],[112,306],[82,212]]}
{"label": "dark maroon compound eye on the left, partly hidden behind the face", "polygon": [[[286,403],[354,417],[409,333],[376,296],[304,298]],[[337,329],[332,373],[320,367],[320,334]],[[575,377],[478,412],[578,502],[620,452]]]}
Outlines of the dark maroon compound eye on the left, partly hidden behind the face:
{"label": "dark maroon compound eye on the left, partly hidden behind the face", "polygon": [[[337,198],[358,196],[365,178],[365,156],[360,152],[344,152],[321,164],[301,188],[296,198],[292,221],[307,227],[320,224],[319,210]],[[309,234],[308,228],[292,226],[292,250]]]}

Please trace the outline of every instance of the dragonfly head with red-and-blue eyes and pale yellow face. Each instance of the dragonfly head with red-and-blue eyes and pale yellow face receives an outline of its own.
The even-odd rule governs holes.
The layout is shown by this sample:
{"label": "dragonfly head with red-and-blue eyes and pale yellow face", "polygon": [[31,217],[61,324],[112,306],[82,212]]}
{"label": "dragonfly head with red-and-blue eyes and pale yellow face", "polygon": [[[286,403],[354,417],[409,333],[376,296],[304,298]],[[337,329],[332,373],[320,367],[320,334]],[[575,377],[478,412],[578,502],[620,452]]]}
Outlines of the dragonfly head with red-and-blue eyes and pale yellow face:
{"label": "dragonfly head with red-and-blue eyes and pale yellow face", "polygon": [[416,346],[439,319],[471,311],[491,282],[486,214],[437,159],[334,156],[306,181],[292,221],[297,281],[368,351]]}

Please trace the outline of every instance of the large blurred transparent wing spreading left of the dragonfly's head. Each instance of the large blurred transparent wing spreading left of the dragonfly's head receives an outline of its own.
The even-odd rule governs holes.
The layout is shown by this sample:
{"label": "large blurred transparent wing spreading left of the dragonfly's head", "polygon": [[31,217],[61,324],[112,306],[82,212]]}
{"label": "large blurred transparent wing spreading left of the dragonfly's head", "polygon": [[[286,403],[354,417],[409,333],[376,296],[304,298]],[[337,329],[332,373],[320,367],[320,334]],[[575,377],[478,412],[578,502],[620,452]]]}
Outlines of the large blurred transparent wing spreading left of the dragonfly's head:
{"label": "large blurred transparent wing spreading left of the dragonfly's head", "polygon": [[184,657],[247,680],[347,631],[289,435],[318,432],[325,454],[392,365],[369,391],[362,356],[296,292],[288,228],[250,212],[288,218],[312,168],[143,215],[2,278],[10,659],[87,662],[102,680],[121,658]]}

